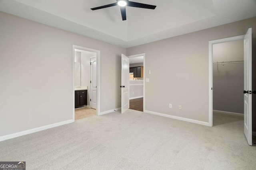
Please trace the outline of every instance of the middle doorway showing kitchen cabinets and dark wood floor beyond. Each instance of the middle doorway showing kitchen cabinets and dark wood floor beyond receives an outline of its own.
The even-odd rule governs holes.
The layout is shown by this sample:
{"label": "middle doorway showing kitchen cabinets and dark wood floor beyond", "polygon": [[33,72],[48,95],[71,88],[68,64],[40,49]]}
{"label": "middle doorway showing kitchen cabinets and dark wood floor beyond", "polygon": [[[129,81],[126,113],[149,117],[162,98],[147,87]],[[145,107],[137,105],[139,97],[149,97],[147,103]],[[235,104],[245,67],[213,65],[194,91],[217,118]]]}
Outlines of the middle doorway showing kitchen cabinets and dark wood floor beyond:
{"label": "middle doorway showing kitchen cabinets and dark wood floor beyond", "polygon": [[128,56],[129,109],[144,111],[145,106],[145,54]]}

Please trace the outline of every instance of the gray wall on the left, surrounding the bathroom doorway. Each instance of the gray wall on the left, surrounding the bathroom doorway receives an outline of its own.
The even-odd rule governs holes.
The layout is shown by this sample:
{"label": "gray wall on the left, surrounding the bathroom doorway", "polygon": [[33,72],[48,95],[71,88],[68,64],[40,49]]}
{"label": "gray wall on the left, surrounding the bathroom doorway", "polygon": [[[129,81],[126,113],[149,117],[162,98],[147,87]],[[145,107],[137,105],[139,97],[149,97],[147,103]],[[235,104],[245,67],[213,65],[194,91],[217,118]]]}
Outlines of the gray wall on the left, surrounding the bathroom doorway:
{"label": "gray wall on the left, surrounding the bathroom doorway", "polygon": [[0,37],[0,137],[72,119],[72,45],[100,50],[100,111],[120,107],[126,49],[3,12]]}

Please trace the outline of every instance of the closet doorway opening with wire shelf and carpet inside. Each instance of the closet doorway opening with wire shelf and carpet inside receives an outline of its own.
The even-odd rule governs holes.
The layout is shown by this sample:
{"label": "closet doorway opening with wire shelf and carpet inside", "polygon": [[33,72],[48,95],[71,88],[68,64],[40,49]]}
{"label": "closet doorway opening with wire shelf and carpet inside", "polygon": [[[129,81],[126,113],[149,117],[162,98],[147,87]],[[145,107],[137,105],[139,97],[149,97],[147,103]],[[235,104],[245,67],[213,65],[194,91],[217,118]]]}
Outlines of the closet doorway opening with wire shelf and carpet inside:
{"label": "closet doorway opening with wire shelf and carpet inside", "polygon": [[244,39],[216,43],[212,46],[213,125],[244,118]]}

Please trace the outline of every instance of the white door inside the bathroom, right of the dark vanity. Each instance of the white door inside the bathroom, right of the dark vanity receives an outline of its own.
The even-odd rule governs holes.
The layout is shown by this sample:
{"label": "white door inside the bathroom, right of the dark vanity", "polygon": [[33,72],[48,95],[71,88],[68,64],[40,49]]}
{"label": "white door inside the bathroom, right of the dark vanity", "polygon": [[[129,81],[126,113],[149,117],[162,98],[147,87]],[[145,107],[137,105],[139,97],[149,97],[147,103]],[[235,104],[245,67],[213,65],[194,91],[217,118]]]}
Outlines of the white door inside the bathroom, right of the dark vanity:
{"label": "white door inside the bathroom, right of the dark vanity", "polygon": [[96,57],[91,57],[91,90],[90,107],[96,109],[97,101],[97,61]]}

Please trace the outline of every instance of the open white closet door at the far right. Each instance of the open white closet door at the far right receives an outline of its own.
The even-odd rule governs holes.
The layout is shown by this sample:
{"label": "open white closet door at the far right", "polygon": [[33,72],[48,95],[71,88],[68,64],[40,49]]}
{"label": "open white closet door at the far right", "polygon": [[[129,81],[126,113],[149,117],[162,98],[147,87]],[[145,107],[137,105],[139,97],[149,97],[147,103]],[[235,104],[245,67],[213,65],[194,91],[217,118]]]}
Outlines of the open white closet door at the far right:
{"label": "open white closet door at the far right", "polygon": [[252,145],[252,28],[244,36],[244,135]]}

